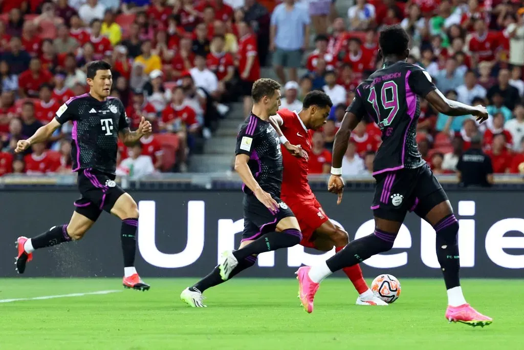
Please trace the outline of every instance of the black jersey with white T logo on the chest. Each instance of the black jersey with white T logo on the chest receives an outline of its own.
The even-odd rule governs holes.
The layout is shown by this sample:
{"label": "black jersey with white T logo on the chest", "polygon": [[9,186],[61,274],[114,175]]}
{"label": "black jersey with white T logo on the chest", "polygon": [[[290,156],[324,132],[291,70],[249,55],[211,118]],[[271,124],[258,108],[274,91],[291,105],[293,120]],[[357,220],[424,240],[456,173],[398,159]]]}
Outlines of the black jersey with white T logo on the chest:
{"label": "black jersey with white T logo on the chest", "polygon": [[62,104],[54,118],[60,124],[73,122],[74,172],[93,168],[115,174],[118,132],[129,126],[122,101],[116,98],[99,101],[85,93]]}

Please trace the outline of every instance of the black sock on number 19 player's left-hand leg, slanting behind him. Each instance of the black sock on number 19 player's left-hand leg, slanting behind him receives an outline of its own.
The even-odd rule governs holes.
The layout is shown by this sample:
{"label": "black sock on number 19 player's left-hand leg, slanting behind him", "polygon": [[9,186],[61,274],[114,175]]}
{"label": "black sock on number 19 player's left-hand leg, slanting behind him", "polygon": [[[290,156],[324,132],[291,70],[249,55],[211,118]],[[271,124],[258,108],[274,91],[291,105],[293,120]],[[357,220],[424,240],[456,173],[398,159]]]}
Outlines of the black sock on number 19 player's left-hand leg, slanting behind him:
{"label": "black sock on number 19 player's left-hand leg, slanting behind him", "polygon": [[326,264],[333,272],[356,265],[375,254],[390,250],[396,237],[397,234],[375,229],[373,235],[351,241],[344,249],[326,260]]}

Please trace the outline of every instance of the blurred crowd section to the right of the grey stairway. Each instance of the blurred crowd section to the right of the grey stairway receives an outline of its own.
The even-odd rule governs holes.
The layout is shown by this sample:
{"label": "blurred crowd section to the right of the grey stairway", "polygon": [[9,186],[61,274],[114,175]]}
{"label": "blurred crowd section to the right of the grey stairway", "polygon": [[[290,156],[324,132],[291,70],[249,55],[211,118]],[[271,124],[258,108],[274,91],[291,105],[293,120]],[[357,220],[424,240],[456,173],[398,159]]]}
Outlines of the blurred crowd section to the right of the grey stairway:
{"label": "blurred crowd section to the right of the grey stairway", "polygon": [[[325,91],[334,103],[328,123],[313,136],[312,173],[329,173],[344,110],[359,82],[380,68],[377,32],[399,24],[411,36],[410,63],[425,68],[448,98],[486,105],[491,115],[478,124],[472,116],[436,113],[421,101],[417,142],[433,171],[457,172],[478,135],[494,173],[524,174],[524,1],[356,0],[346,18],[337,17],[330,3],[286,0],[271,16],[272,63],[286,82],[282,107],[299,110],[301,98],[313,89]],[[312,30],[315,36],[309,35]],[[310,37],[315,50],[303,56]],[[308,72],[298,77],[299,67]],[[371,120],[358,125],[344,157],[344,175],[373,172],[380,135]]]}

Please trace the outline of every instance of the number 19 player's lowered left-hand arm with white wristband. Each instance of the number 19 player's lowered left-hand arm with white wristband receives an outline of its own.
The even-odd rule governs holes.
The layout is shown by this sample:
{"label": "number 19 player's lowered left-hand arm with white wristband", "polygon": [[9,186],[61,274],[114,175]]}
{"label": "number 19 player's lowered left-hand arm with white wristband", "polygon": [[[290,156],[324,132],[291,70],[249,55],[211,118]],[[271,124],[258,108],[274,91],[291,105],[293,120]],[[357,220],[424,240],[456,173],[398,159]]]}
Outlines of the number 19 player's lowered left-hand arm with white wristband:
{"label": "number 19 player's lowered left-hand arm with white wristband", "polygon": [[350,141],[351,132],[356,128],[358,123],[362,120],[362,116],[358,116],[352,112],[346,112],[342,125],[339,131],[336,132],[335,141],[333,144],[333,160],[331,162],[331,176],[328,182],[328,190],[331,193],[339,195],[336,203],[340,204],[342,201],[342,193],[344,192],[344,179],[340,168],[342,167],[342,158],[347,150],[347,144]]}

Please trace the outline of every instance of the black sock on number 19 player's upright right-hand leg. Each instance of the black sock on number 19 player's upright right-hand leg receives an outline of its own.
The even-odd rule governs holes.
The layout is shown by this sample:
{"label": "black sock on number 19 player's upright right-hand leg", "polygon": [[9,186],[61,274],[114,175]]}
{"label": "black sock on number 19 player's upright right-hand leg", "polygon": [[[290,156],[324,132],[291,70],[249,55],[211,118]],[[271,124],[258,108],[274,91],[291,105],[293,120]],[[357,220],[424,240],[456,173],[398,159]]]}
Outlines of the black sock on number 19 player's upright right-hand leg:
{"label": "black sock on number 19 player's upright right-hand leg", "polygon": [[457,244],[459,221],[455,215],[448,215],[435,225],[435,232],[436,257],[439,259],[446,289],[459,287],[460,258]]}

